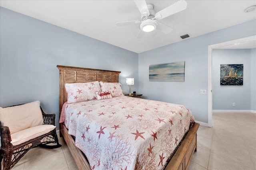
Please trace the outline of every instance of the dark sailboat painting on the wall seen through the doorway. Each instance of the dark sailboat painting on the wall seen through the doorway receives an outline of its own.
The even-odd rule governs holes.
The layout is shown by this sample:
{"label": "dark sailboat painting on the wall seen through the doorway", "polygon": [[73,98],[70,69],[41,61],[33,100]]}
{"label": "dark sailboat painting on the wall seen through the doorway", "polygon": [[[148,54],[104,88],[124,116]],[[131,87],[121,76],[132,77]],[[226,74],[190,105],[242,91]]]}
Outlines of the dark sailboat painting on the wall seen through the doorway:
{"label": "dark sailboat painting on the wall seen through the doorway", "polygon": [[220,64],[220,85],[242,86],[244,64]]}

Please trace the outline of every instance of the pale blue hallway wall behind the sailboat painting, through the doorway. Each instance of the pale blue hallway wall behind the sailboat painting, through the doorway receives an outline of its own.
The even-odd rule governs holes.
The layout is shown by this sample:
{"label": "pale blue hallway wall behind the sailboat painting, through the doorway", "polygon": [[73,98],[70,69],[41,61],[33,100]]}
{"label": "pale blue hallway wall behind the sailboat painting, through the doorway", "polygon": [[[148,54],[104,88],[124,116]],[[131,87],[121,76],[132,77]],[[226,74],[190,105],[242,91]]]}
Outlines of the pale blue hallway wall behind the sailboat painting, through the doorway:
{"label": "pale blue hallway wall behind the sailboat painting, through the doorway", "polygon": [[[212,51],[212,109],[251,110],[251,49],[214,49]],[[220,86],[220,64],[244,64],[243,86]],[[255,78],[254,78],[255,79]],[[235,103],[236,106],[232,106]]]}

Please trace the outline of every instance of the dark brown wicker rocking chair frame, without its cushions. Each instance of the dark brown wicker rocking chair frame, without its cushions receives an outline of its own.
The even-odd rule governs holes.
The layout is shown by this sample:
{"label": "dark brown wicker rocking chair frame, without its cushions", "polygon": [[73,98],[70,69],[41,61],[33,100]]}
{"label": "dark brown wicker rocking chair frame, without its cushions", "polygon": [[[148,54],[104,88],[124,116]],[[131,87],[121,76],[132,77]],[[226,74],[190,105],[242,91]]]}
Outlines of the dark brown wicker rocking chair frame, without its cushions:
{"label": "dark brown wicker rocking chair frame, without its cushions", "polygon": [[[16,105],[19,106],[19,105]],[[39,102],[40,106],[40,102]],[[12,106],[10,106],[12,107]],[[53,125],[55,126],[55,114],[46,114],[42,110],[43,125]],[[28,150],[34,147],[44,147],[48,149],[54,149],[61,147],[56,134],[56,129],[54,127],[48,133],[30,139],[19,145],[12,145],[10,129],[7,126],[3,126],[0,121],[0,135],[1,135],[1,149],[0,149],[0,162],[3,160],[3,170],[10,170],[13,166],[28,152]],[[48,145],[50,143],[56,145]]]}

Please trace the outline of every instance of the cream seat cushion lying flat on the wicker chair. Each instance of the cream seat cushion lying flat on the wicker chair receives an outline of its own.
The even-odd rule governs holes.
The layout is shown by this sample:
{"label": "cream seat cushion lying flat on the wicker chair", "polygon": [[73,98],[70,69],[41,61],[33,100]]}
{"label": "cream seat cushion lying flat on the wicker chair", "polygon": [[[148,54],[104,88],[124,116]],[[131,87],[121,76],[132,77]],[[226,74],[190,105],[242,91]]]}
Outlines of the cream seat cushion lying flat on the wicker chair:
{"label": "cream seat cushion lying flat on the wicker chair", "polygon": [[12,138],[11,143],[14,146],[20,145],[21,143],[29,141],[30,139],[34,139],[36,137],[39,137],[41,135],[44,135],[52,131],[55,127],[56,126],[54,125],[39,125],[35,127],[30,127],[22,131],[18,131],[11,135],[11,138]]}

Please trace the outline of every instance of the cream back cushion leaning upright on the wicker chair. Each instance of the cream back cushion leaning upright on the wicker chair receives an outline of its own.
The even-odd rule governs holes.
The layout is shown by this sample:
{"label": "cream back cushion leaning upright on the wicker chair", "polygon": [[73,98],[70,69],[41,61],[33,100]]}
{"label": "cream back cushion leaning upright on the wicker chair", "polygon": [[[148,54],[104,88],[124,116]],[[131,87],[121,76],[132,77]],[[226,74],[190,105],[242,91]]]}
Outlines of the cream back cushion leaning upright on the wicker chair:
{"label": "cream back cushion leaning upright on the wicker chair", "polygon": [[0,108],[0,117],[2,125],[8,126],[11,134],[43,124],[40,101]]}

